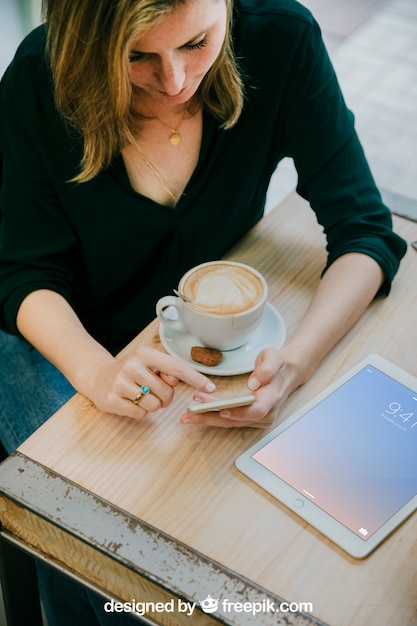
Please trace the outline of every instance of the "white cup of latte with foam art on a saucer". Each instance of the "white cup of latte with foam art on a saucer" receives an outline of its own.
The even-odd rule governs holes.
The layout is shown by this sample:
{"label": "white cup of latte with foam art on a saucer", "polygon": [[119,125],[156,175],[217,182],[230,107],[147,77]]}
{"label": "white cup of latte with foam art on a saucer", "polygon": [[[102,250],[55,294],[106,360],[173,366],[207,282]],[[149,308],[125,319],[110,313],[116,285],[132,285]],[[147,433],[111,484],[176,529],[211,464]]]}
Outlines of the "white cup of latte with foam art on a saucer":
{"label": "white cup of latte with foam art on a saucer", "polygon": [[[265,311],[268,285],[249,265],[210,261],[184,274],[178,292],[185,299],[164,296],[158,300],[156,314],[161,324],[224,351],[239,348],[256,330]],[[177,319],[167,315],[169,307],[175,307]]]}

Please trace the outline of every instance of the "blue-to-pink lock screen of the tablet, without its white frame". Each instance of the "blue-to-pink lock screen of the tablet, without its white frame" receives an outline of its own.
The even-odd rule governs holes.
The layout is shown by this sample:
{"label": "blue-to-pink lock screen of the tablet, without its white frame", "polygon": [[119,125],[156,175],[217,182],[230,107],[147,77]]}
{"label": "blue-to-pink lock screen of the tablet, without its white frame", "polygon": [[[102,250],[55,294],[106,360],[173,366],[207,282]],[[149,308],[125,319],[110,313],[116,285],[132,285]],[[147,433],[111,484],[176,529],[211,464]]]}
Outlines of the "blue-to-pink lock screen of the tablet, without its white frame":
{"label": "blue-to-pink lock screen of the tablet, without its white frame", "polygon": [[252,458],[367,541],[417,493],[417,393],[366,365]]}

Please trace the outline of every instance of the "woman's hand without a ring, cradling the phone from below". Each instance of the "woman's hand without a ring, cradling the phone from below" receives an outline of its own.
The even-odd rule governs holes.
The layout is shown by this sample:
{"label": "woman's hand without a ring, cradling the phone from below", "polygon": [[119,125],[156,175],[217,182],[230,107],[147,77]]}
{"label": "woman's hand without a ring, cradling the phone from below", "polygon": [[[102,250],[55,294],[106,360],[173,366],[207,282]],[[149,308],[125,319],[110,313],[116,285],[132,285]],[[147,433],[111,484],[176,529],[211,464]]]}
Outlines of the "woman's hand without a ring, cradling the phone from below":
{"label": "woman's hand without a ring, cradling the phone from below", "polygon": [[[268,428],[282,404],[298,386],[295,380],[298,380],[297,372],[286,360],[284,352],[267,348],[258,355],[247,382],[248,389],[256,398],[253,404],[208,413],[187,412],[181,416],[181,423],[224,428]],[[193,399],[196,402],[210,402],[220,398],[197,392]]]}

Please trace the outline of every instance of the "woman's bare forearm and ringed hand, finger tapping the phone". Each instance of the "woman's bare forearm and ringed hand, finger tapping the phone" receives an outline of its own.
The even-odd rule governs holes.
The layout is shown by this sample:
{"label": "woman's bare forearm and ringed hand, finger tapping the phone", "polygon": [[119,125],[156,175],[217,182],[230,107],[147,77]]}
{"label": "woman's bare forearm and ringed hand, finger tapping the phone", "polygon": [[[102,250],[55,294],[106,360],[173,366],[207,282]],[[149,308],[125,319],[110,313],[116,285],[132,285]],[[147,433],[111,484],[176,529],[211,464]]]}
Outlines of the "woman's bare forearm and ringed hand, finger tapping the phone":
{"label": "woman's bare forearm and ringed hand, finger tapping the phone", "polygon": [[[141,419],[171,402],[179,380],[208,393],[215,388],[186,363],[149,347],[114,358],[87,333],[65,298],[47,289],[33,291],[23,300],[17,326],[75,389],[109,413]],[[151,393],[135,405],[132,400],[142,385]]]}

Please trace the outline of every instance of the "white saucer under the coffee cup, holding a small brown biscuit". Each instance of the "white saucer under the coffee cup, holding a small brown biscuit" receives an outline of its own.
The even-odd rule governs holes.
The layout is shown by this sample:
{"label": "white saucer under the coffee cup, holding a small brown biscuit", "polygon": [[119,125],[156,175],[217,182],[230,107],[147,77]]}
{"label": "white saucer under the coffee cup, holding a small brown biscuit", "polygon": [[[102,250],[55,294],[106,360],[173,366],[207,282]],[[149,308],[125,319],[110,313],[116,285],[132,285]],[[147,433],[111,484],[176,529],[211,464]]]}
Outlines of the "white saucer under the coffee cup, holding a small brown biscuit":
{"label": "white saucer under the coffee cup, holding a small brown biscuit", "polygon": [[285,342],[286,328],[281,314],[268,302],[260,325],[245,345],[236,348],[236,350],[223,352],[222,362],[214,367],[208,367],[192,360],[191,348],[201,345],[198,339],[192,335],[175,332],[160,324],[159,336],[162,345],[171,356],[189,363],[199,372],[218,376],[234,376],[235,374],[251,372],[256,357],[264,348],[281,348]]}

